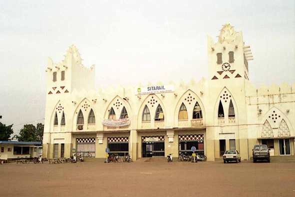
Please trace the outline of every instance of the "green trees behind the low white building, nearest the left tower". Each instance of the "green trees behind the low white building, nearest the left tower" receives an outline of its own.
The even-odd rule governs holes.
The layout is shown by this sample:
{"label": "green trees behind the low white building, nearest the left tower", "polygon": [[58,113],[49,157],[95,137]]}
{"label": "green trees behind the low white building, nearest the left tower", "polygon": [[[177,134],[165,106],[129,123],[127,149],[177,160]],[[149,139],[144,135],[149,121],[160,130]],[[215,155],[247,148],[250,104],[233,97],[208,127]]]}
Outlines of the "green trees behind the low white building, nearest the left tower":
{"label": "green trees behind the low white building, nearest the left tower", "polygon": [[18,141],[42,141],[44,125],[37,124],[37,128],[33,124],[25,124],[20,129],[19,135],[14,135],[13,138]]}

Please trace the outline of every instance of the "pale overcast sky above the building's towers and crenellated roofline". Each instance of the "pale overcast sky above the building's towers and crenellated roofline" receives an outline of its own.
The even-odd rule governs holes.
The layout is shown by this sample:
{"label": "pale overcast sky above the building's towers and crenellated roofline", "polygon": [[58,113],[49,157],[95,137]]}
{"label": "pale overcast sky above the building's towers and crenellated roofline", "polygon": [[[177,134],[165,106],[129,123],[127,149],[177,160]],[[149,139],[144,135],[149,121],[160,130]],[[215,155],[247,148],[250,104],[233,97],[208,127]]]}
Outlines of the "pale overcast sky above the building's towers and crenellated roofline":
{"label": "pale overcast sky above the building's towers and crenellated roofline", "polygon": [[[295,1],[0,1],[0,122],[42,122],[47,57],[68,46],[96,65],[96,88],[208,78],[206,35],[225,23],[251,47],[258,87],[295,78]],[[35,121],[37,120],[37,121]],[[34,121],[34,122],[32,122]]]}

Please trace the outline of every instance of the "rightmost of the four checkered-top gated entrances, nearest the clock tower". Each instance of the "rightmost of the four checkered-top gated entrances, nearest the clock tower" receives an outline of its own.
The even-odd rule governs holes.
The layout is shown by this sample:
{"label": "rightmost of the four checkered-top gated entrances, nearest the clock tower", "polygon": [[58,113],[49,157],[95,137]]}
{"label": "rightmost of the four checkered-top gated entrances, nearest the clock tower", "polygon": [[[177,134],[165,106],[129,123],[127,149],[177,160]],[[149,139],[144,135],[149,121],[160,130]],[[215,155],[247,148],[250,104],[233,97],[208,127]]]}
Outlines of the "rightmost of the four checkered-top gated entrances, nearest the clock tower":
{"label": "rightmost of the four checkered-top gated entrances, nearest the clock tower", "polygon": [[204,135],[203,134],[187,134],[178,135],[179,141],[179,154],[187,153],[192,154],[190,150],[192,146],[196,148],[196,153],[204,155]]}

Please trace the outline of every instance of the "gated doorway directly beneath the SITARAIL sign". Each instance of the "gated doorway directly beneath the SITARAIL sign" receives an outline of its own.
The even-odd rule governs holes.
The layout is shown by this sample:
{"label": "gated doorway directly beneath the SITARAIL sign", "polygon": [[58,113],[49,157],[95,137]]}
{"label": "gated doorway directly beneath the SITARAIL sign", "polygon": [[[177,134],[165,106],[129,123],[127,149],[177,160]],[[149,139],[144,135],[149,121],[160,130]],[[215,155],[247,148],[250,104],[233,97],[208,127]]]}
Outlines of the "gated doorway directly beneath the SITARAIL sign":
{"label": "gated doorway directly beneath the SITARAIL sign", "polygon": [[142,136],[142,157],[164,157],[164,136]]}

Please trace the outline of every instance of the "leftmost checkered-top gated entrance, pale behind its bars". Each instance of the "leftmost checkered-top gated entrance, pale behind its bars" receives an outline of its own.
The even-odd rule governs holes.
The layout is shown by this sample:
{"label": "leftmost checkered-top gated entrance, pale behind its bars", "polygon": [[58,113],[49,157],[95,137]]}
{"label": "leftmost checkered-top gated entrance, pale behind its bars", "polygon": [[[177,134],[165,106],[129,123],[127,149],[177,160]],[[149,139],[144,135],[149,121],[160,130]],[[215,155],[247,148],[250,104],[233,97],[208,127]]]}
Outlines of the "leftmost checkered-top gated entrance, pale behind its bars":
{"label": "leftmost checkered-top gated entrance, pale behind its bars", "polygon": [[77,154],[91,153],[95,157],[95,137],[76,138]]}

